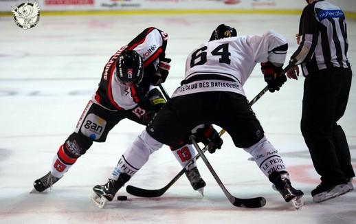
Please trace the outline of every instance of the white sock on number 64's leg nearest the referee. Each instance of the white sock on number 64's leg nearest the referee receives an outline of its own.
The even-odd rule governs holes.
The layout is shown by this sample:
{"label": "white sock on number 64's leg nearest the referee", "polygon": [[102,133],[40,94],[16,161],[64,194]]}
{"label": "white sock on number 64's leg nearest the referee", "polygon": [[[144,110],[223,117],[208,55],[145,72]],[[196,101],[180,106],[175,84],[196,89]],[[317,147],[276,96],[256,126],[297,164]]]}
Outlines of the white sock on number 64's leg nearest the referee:
{"label": "white sock on number 64's leg nearest the referee", "polygon": [[244,148],[244,150],[254,157],[254,161],[256,161],[257,166],[266,177],[274,171],[286,171],[285,164],[283,164],[282,158],[278,155],[278,150],[274,148],[266,137],[260,139],[253,146]]}

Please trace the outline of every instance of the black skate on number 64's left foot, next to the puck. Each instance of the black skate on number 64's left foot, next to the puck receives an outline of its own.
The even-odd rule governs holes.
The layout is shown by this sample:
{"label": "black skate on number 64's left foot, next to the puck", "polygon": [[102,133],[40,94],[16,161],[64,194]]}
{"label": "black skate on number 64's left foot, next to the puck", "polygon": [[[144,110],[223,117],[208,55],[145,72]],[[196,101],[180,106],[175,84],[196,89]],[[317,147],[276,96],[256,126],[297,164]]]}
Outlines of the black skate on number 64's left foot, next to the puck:
{"label": "black skate on number 64's left foot, next to the puck", "polygon": [[109,179],[104,185],[94,186],[94,194],[93,197],[91,197],[91,201],[99,208],[104,208],[108,201],[113,201],[116,192],[118,192],[130,178],[131,177],[126,173],[121,173],[117,181]]}

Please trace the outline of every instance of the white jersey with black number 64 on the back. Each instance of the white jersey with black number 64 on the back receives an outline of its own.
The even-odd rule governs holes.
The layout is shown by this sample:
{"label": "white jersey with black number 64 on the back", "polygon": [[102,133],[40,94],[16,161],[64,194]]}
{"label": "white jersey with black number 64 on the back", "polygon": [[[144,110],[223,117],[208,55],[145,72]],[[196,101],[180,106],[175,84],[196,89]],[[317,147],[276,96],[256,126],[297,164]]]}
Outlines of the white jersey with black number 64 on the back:
{"label": "white jersey with black number 64 on the back", "polygon": [[173,97],[205,91],[232,91],[245,96],[243,85],[256,63],[282,65],[286,54],[286,39],[274,31],[203,43],[189,54],[185,79]]}

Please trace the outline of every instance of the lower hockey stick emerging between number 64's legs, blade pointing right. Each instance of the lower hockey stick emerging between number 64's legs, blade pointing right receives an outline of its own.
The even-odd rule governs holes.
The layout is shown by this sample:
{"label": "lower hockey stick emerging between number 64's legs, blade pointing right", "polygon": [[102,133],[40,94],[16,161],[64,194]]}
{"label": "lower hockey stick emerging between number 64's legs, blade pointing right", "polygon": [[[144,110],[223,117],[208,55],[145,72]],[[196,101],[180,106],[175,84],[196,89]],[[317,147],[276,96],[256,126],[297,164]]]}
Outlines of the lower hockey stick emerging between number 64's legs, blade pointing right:
{"label": "lower hockey stick emerging between number 64's legs, blade pointing right", "polygon": [[230,203],[232,203],[232,205],[235,205],[237,207],[245,207],[245,208],[261,208],[261,207],[265,206],[266,199],[264,197],[255,197],[255,198],[251,198],[251,199],[239,199],[239,198],[234,197],[232,194],[230,194],[230,192],[225,188],[223,182],[221,182],[221,179],[219,178],[219,176],[216,174],[214,168],[212,168],[212,165],[210,165],[210,162],[208,161],[208,159],[205,157],[203,150],[201,150],[201,148],[195,141],[195,136],[190,135],[189,139],[190,139],[190,142],[192,142],[192,144],[194,145],[195,149],[197,149],[197,151],[198,151],[199,155],[201,156],[201,159],[203,159],[205,165],[208,167],[208,169],[212,173],[212,177],[214,177],[216,182],[219,184],[221,190],[223,190],[225,196],[227,197],[227,199],[229,199],[229,201],[230,201]]}

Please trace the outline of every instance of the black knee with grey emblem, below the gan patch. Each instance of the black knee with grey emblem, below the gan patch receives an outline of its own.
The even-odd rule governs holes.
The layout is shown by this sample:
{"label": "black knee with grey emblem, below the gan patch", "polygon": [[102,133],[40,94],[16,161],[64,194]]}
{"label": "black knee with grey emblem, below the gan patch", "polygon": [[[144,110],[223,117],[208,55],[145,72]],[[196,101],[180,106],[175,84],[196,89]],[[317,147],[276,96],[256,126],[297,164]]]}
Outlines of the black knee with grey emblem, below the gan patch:
{"label": "black knee with grey emblem, below the gan patch", "polygon": [[65,140],[64,146],[68,153],[78,158],[80,155],[85,154],[92,144],[93,141],[88,137],[72,133]]}

